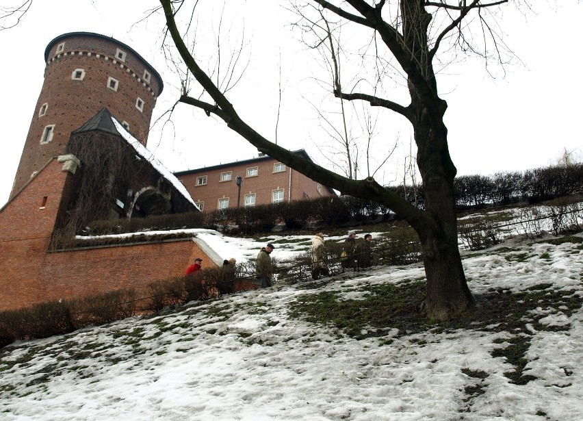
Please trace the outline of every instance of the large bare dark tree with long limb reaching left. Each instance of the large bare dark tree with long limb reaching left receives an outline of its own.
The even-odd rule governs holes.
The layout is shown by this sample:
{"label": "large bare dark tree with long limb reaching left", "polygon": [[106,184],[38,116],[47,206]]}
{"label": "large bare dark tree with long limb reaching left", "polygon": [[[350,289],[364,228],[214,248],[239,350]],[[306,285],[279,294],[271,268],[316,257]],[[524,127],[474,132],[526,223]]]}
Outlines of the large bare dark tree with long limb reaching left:
{"label": "large bare dark tree with long limb reaching left", "polygon": [[[360,34],[369,37],[370,48],[378,61],[398,68],[406,78],[409,103],[404,105],[382,96],[384,92],[378,89],[382,80],[368,84],[372,87],[368,90],[361,90],[359,85],[347,91],[343,86],[335,86],[333,94],[346,101],[364,101],[372,107],[382,107],[409,121],[417,146],[417,166],[425,196],[424,210],[389,192],[372,177],[362,180],[343,177],[261,136],[239,117],[233,104],[200,67],[183,41],[183,34],[175,20],[183,1],[160,0],[160,3],[174,47],[205,90],[205,98],[208,98],[193,98],[184,94],[181,102],[218,116],[259,151],[281,160],[307,177],[352,196],[374,199],[405,218],[419,235],[424,251],[427,277],[425,308],[428,317],[446,320],[474,304],[458,250],[454,196],[456,167],[448,150],[448,129],[443,122],[447,103],[439,97],[434,62],[437,61],[438,51],[449,53],[448,57],[462,51],[478,53],[484,58],[494,58],[504,63],[505,46],[499,38],[493,12],[500,11],[508,0],[304,2],[316,5],[318,13],[332,14],[344,24],[359,28]],[[476,46],[484,48],[478,49]],[[384,75],[378,73],[379,78]]]}

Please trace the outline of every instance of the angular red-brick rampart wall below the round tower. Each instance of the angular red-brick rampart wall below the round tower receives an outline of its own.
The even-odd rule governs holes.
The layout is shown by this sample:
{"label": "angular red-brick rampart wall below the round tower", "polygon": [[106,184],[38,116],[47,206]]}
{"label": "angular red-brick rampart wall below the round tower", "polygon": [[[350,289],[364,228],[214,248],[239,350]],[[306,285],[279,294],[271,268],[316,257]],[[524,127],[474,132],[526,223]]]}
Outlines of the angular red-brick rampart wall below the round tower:
{"label": "angular red-brick rampart wall below the round tower", "polygon": [[197,256],[214,266],[184,240],[48,253],[55,220],[81,177],[65,165],[52,158],[0,209],[0,311],[120,288],[143,296],[148,283],[183,275]]}

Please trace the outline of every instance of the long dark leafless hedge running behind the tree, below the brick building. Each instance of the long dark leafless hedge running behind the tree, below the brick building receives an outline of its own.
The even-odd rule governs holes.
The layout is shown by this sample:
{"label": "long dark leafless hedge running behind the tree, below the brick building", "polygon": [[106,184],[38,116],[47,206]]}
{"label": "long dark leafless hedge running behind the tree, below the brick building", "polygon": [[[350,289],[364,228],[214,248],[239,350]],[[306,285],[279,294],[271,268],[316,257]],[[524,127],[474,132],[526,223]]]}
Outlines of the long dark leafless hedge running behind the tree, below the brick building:
{"label": "long dark leafless hedge running behind the tree, below the brick building", "polygon": [[[583,164],[537,168],[524,173],[497,173],[492,176],[465,175],[456,177],[454,188],[459,211],[519,202],[541,203],[583,192]],[[421,185],[391,186],[387,189],[419,208],[424,207]],[[371,218],[393,216],[388,207],[370,199],[337,196],[311,201],[221,209],[207,213],[189,212],[131,220],[96,221],[79,234],[103,235],[153,229],[207,228],[255,235],[269,232],[283,224],[285,229],[290,230],[311,229],[316,223],[324,227],[342,227]]]}

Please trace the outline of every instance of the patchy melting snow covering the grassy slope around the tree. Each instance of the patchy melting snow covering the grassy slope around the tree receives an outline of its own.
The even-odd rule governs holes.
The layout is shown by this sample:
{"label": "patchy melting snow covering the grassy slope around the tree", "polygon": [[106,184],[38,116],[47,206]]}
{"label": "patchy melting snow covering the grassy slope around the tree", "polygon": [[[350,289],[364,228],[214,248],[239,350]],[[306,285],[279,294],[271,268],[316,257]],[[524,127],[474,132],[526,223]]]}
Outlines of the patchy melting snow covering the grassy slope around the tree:
{"label": "patchy melting snow covering the grassy slope around the tree", "polygon": [[[200,232],[225,258],[264,244]],[[361,235],[359,235],[360,237]],[[297,238],[276,241],[273,257]],[[292,242],[292,240],[294,240]],[[305,238],[306,241],[310,237]],[[505,248],[502,248],[502,247]],[[297,251],[296,251],[297,253]],[[583,297],[583,250],[566,242],[507,242],[463,260],[476,294],[548,291]],[[423,279],[415,264],[373,268],[324,283],[285,285],[190,303],[0,349],[3,420],[583,420],[583,310],[541,304],[527,323],[523,375],[493,350],[513,332],[428,329],[356,340],[293,318],[309,294],[363,299],[374,285]],[[571,307],[572,308],[572,307]],[[554,329],[560,327],[560,329]],[[519,333],[525,335],[525,333]],[[392,341],[391,341],[392,340]],[[481,374],[480,376],[475,373]]]}

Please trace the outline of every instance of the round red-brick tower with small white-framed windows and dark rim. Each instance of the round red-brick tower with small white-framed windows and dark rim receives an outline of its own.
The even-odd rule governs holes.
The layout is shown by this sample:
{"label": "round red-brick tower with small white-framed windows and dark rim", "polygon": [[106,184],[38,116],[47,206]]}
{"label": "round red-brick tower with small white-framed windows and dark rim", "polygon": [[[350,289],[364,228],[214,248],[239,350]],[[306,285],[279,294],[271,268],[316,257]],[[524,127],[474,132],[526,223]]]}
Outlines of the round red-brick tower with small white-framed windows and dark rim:
{"label": "round red-brick tower with small white-framed windows and dark rim", "polygon": [[10,196],[53,156],[71,132],[103,107],[146,145],[156,99],[164,88],[155,69],[126,44],[100,34],[57,36],[44,51],[44,84],[32,116]]}

